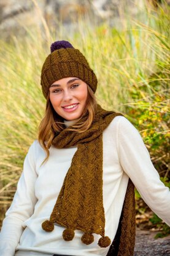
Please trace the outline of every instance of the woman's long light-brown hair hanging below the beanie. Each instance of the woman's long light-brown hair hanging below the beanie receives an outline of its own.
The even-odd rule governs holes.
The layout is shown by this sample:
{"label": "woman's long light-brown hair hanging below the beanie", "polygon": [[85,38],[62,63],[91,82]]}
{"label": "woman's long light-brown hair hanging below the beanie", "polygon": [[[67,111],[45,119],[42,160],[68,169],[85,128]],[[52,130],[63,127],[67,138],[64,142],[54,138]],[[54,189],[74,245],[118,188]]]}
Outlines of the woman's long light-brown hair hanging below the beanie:
{"label": "woman's long light-brown hair hanging below the beanie", "polygon": [[[85,132],[85,130],[87,130],[91,126],[91,123],[95,118],[95,112],[97,108],[96,97],[93,93],[93,90],[91,90],[90,86],[88,85],[87,91],[87,103],[85,109],[83,110],[82,116],[80,116],[80,118],[82,118],[83,116],[87,116],[87,119],[84,122],[79,122],[80,118],[77,119],[76,123],[72,125],[71,128],[68,127],[69,130],[79,133]],[[64,122],[61,120],[61,116],[58,116],[56,111],[53,109],[52,103],[50,102],[50,92],[48,91],[45,115],[44,118],[42,118],[42,121],[39,125],[38,135],[39,143],[42,146],[42,148],[44,148],[47,154],[42,164],[49,158],[49,148],[52,145],[52,140],[55,137],[55,133],[61,132],[61,130],[64,129]],[[77,124],[77,122],[79,122],[79,124]]]}

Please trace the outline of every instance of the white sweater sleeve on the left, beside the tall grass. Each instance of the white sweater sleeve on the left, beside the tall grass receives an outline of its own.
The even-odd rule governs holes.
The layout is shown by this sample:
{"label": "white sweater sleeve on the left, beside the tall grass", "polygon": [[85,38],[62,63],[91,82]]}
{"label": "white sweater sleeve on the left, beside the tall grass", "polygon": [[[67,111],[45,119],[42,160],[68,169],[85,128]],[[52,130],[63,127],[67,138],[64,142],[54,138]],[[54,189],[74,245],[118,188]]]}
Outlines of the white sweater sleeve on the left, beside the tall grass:
{"label": "white sweater sleeve on the left, beside the tall grass", "polygon": [[17,191],[2,223],[0,234],[1,256],[15,255],[15,249],[23,233],[23,222],[33,214],[37,201],[34,193],[34,183],[37,178],[34,162],[34,144],[30,146],[26,155]]}

